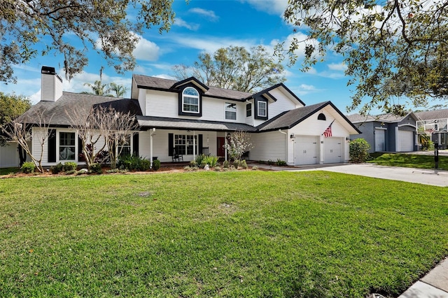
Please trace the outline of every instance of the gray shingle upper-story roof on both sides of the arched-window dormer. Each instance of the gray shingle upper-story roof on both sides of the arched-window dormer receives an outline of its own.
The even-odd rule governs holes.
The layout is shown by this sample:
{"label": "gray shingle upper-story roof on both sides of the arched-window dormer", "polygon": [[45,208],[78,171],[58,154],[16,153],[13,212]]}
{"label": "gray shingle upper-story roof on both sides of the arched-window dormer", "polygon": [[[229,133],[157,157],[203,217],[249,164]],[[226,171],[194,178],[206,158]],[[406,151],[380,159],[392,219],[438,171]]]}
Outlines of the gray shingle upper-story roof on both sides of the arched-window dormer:
{"label": "gray shingle upper-story roof on both sides of the arched-window dormer", "polygon": [[[166,78],[154,78],[151,76],[141,76],[134,75],[133,76],[135,83],[137,83],[137,87],[144,89],[154,89],[154,90],[175,90],[172,89],[172,86],[176,83],[179,83],[177,80],[168,80]],[[218,97],[222,99],[232,99],[238,101],[245,101],[248,97],[251,97],[252,94],[248,92],[241,92],[235,90],[227,90],[217,87],[209,87],[209,90],[204,93],[205,96],[208,97]]]}

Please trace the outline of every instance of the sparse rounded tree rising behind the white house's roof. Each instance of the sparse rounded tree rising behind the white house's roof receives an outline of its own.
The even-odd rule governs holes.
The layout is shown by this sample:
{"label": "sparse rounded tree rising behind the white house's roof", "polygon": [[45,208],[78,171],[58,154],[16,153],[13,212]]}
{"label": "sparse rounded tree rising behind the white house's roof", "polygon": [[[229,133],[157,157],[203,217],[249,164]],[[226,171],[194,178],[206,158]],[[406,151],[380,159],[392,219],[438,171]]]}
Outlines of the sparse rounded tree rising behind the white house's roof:
{"label": "sparse rounded tree rising behind the white house's roof", "polygon": [[193,66],[174,66],[179,80],[194,76],[208,86],[242,92],[255,92],[286,80],[283,65],[274,61],[262,45],[250,51],[244,47],[220,48],[214,54],[202,53]]}

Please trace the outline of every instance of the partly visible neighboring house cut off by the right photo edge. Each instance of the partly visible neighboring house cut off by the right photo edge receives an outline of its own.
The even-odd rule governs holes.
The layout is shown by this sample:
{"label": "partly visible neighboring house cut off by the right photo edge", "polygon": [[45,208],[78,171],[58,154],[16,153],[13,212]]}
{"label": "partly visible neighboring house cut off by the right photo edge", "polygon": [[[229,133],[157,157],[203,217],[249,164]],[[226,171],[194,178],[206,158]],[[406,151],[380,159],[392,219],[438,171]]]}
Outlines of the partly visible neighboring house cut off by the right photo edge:
{"label": "partly visible neighboring house cut off by the right photo edge", "polygon": [[440,149],[448,148],[448,108],[436,111],[416,112],[419,120],[425,120],[428,124],[436,124],[437,132],[432,134],[431,141],[439,144]]}

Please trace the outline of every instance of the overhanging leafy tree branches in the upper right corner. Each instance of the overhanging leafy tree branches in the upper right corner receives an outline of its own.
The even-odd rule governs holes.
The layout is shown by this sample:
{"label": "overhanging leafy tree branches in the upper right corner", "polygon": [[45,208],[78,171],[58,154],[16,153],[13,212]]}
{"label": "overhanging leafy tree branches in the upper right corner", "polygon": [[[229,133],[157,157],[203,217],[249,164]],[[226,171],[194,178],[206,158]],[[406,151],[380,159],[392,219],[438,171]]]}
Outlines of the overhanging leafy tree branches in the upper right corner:
{"label": "overhanging leafy tree branches in the upper right corner", "polygon": [[402,113],[397,98],[424,106],[448,95],[447,0],[291,0],[284,18],[308,37],[293,38],[288,49],[279,44],[277,55],[294,64],[303,45],[304,69],[328,50],[342,55],[348,85],[356,84],[349,111],[363,104],[361,113],[390,106]]}

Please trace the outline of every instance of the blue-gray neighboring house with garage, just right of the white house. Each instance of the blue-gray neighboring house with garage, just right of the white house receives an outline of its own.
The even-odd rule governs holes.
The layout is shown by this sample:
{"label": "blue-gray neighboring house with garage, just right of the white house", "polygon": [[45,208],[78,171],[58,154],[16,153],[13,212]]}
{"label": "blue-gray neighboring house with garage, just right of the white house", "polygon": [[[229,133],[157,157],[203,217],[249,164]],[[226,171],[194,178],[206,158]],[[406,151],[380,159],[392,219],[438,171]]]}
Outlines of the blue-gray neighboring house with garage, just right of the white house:
{"label": "blue-gray neighboring house with garage, just right of the white house", "polygon": [[351,139],[365,139],[370,144],[369,152],[412,152],[417,150],[416,115],[405,116],[392,113],[376,116],[359,114],[347,118],[363,134],[351,135]]}

